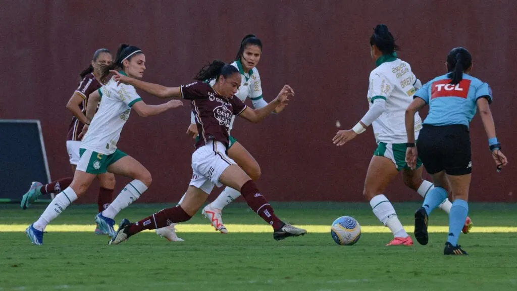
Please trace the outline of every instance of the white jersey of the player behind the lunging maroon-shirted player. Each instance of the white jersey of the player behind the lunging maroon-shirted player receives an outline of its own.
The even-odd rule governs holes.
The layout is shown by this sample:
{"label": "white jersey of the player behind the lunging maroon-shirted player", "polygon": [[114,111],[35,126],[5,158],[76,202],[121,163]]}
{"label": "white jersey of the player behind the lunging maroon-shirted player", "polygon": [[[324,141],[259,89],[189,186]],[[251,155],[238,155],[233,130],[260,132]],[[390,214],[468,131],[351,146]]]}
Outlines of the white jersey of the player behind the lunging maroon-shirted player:
{"label": "white jersey of the player behind the lunging maroon-shirted player", "polygon": [[[267,105],[267,102],[262,98],[262,85],[260,82],[260,75],[258,75],[257,68],[253,68],[247,74],[244,72],[242,68],[242,64],[240,61],[235,61],[232,63],[232,66],[236,67],[240,72],[240,87],[235,96],[239,98],[242,102],[245,102],[249,97],[251,102],[253,103],[253,108],[259,109]],[[214,86],[216,80],[211,80],[210,85]],[[230,122],[230,129],[228,132],[230,133],[233,128],[233,123],[235,121],[235,115],[232,117],[232,121]],[[191,114],[190,123],[194,124],[194,114]]]}

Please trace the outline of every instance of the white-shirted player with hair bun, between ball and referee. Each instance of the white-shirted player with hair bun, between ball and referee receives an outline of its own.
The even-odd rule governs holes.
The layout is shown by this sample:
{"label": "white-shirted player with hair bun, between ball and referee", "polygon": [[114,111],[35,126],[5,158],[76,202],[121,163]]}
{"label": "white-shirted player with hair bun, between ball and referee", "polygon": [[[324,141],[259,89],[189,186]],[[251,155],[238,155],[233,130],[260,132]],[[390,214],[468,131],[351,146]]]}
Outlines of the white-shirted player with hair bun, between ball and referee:
{"label": "white-shirted player with hair bun, between ball and referee", "polygon": [[[384,191],[399,171],[402,171],[404,184],[425,197],[434,186],[422,179],[422,163],[417,162],[412,170],[405,162],[407,135],[405,130],[405,111],[413,100],[416,89],[421,82],[413,74],[408,63],[398,59],[398,48],[386,25],[377,25],[370,38],[371,56],[376,68],[370,73],[368,102],[370,109],[354,128],[340,130],[332,139],[334,144],[342,146],[364,132],[372,124],[375,140],[378,144],[374,152],[366,180],[363,195],[370,201],[373,213],[379,221],[389,227],[393,239],[387,245],[413,245],[412,238],[404,230],[391,202],[384,196]],[[422,121],[415,113],[415,136]],[[445,199],[440,208],[450,212],[451,202]],[[472,222],[467,218],[464,231],[469,230]]]}

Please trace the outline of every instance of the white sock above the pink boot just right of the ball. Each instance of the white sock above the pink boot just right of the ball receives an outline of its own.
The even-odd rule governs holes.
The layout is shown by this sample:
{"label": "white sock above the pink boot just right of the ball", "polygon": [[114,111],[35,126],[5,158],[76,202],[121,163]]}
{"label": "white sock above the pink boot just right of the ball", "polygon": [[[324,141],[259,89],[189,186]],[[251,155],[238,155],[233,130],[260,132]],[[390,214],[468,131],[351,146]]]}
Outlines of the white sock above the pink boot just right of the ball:
{"label": "white sock above the pink boot just right of the ball", "polygon": [[377,216],[377,219],[384,225],[387,226],[394,237],[407,237],[407,232],[404,230],[402,223],[397,217],[397,213],[391,205],[391,202],[383,194],[377,195],[370,200],[370,206],[372,207],[373,214]]}

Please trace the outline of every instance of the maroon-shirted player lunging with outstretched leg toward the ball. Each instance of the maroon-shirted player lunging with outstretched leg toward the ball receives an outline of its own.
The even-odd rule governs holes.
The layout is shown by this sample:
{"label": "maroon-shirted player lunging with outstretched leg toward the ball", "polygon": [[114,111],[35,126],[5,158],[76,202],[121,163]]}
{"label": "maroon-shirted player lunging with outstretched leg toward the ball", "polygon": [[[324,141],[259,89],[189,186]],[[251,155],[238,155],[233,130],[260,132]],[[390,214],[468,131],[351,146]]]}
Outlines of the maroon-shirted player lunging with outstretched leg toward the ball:
{"label": "maroon-shirted player lunging with outstretched leg toward the ball", "polygon": [[[216,83],[213,86],[204,82],[214,79]],[[221,61],[214,61],[203,67],[195,77],[196,82],[175,88],[143,82],[120,74],[115,76],[115,80],[133,85],[160,98],[191,100],[200,139],[196,142],[196,150],[192,154],[192,179],[185,199],[180,205],[163,209],[136,223],[124,219],[110,244],[126,241],[144,229],[156,229],[190,220],[215,185],[239,189],[248,206],[273,227],[274,239],[281,240],[307,233],[305,229],[285,224],[278,219],[255,182],[226,154],[230,138],[228,129],[233,115],[253,123],[262,121],[275,108],[287,104],[288,98],[294,95],[290,86],[284,85],[277,98],[267,106],[253,110],[234,96],[241,83],[239,70]]]}

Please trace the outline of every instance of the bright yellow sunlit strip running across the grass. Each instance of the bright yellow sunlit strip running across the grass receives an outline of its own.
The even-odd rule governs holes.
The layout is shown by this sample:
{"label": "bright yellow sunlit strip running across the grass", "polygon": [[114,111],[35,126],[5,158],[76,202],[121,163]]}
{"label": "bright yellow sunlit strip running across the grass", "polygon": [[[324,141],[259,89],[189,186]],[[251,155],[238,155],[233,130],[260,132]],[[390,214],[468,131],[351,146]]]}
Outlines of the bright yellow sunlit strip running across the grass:
{"label": "bright yellow sunlit strip running across the grass", "polygon": [[[330,232],[329,225],[296,225],[305,228],[308,232],[316,234],[324,234]],[[26,224],[0,224],[0,232],[18,232],[24,231]],[[260,224],[226,224],[229,232],[271,232],[271,227]],[[46,231],[56,232],[92,232],[95,225],[84,224],[50,224]],[[116,229],[116,227],[115,227]],[[176,225],[178,232],[215,232],[214,228],[208,224],[178,224]],[[413,232],[413,226],[406,226],[406,231]],[[361,231],[365,233],[389,232],[384,226],[363,225]],[[430,226],[429,232],[448,232],[448,226]],[[474,226],[470,232],[517,232],[517,227],[509,226]]]}

